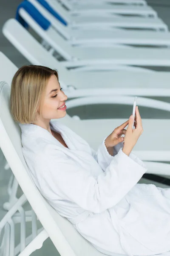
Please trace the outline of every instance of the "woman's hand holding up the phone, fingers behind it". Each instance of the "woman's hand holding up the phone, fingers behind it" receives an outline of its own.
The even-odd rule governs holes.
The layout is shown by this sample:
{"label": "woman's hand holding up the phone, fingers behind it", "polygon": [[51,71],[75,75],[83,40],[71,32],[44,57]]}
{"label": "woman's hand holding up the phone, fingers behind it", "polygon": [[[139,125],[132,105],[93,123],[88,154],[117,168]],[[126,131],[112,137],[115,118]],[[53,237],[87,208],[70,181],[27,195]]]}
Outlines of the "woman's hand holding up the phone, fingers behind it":
{"label": "woman's hand holding up the phone, fingers behind it", "polygon": [[124,146],[122,151],[129,156],[130,152],[132,151],[134,145],[136,144],[137,140],[143,133],[142,127],[142,119],[139,114],[139,109],[136,106],[136,124],[135,129],[132,128],[133,125],[133,116],[130,116],[129,124],[127,127],[127,131],[124,138]]}

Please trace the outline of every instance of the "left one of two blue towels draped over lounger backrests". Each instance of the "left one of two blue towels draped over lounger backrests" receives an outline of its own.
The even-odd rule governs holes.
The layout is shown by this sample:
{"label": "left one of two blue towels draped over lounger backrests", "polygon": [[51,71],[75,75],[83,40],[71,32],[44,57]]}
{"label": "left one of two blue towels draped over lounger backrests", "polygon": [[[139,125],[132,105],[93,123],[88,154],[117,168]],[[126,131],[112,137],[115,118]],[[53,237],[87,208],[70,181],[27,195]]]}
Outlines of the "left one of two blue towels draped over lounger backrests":
{"label": "left one of two blue towels draped over lounger backrests", "polygon": [[19,14],[19,9],[23,8],[28,12],[28,14],[42,27],[42,29],[47,30],[49,26],[51,26],[51,23],[45,19],[44,16],[41,15],[41,13],[28,1],[23,1],[22,3],[19,4],[17,7],[17,12],[16,12],[16,20],[18,20],[21,25],[23,25],[26,29],[28,29],[28,24],[26,23],[25,20],[20,16]]}

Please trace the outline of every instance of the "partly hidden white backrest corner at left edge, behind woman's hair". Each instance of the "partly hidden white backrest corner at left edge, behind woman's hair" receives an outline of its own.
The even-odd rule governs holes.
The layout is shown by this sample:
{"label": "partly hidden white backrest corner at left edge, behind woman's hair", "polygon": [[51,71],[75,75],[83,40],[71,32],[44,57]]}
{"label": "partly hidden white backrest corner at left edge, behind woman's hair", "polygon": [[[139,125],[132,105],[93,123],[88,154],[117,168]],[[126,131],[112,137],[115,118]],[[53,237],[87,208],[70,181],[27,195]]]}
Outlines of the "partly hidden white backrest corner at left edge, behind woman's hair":
{"label": "partly hidden white backrest corner at left edge, behind woman's hair", "polygon": [[18,68],[3,52],[0,52],[0,81],[6,81],[11,86],[11,81]]}

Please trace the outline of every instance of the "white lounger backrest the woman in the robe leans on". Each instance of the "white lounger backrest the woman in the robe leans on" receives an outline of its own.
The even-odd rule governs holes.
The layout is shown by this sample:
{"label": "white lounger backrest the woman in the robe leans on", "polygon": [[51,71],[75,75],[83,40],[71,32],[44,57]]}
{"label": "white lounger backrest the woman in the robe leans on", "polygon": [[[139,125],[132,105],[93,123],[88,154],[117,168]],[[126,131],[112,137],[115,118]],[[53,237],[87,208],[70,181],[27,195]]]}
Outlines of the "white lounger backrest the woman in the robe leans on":
{"label": "white lounger backrest the woman in the robe leans on", "polygon": [[60,216],[34,185],[22,153],[21,131],[9,108],[10,87],[0,82],[0,148],[23,193],[61,256],[104,256]]}

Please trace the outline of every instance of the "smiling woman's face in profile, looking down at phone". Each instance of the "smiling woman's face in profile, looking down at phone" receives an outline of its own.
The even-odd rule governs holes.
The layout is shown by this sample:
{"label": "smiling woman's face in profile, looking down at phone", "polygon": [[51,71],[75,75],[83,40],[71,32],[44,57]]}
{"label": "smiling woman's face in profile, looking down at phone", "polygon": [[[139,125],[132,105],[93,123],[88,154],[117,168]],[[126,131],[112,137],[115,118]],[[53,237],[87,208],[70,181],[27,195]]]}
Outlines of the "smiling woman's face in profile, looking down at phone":
{"label": "smiling woman's face in profile, looking down at phone", "polygon": [[42,103],[42,119],[62,118],[66,115],[67,96],[61,90],[59,81],[52,75],[48,81],[45,98]]}

